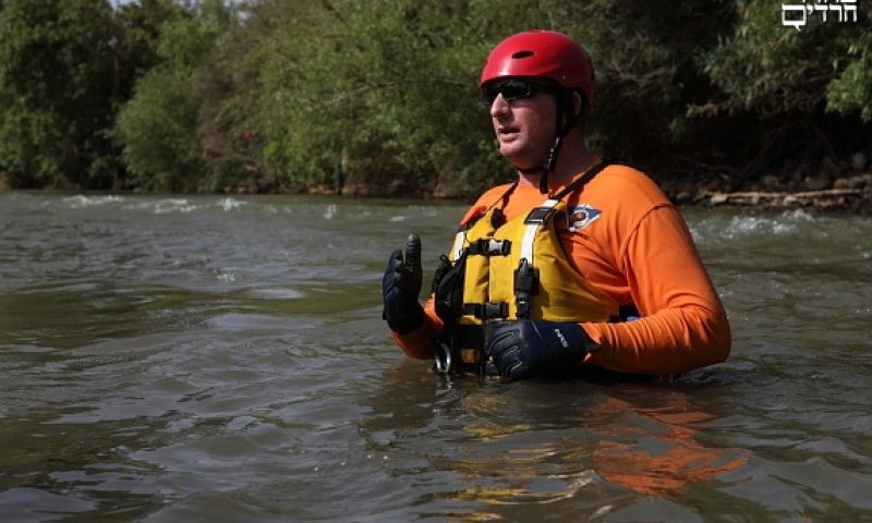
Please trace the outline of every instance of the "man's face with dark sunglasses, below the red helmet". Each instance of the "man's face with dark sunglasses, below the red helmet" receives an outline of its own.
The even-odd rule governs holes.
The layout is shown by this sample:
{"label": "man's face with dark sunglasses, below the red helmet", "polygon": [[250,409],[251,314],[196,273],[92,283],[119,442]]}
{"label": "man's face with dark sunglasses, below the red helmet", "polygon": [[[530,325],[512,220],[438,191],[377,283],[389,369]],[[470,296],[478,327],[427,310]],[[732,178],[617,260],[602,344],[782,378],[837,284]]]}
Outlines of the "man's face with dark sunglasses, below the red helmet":
{"label": "man's face with dark sunglasses, below the red helmet", "polygon": [[[497,84],[499,85],[499,84]],[[499,89],[494,89],[498,93]],[[518,169],[533,169],[545,163],[554,143],[557,104],[553,95],[533,90],[530,96],[507,100],[499,93],[491,104],[499,154]]]}

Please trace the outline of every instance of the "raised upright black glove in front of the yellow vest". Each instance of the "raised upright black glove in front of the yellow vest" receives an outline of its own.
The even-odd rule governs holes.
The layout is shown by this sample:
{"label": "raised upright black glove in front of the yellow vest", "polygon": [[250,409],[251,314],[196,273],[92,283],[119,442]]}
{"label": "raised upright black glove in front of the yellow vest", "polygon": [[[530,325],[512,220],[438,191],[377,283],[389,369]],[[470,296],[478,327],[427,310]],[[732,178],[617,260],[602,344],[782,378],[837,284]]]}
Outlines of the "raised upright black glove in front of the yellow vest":
{"label": "raised upright black glove in front of the yellow vest", "polygon": [[424,309],[417,303],[421,273],[421,239],[417,234],[410,234],[405,241],[405,260],[400,250],[390,253],[382,280],[382,297],[385,301],[382,318],[397,333],[411,332],[424,323]]}

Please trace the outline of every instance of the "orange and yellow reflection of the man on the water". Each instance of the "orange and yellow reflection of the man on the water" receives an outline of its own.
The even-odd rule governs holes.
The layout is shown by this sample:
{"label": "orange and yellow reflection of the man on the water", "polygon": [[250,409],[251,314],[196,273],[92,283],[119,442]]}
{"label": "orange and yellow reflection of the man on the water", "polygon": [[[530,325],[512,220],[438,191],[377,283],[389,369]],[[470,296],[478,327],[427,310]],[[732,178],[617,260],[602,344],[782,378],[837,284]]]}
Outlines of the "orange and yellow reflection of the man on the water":
{"label": "orange and yellow reflection of the man on the water", "polygon": [[445,503],[464,521],[519,506],[544,516],[604,514],[649,496],[680,500],[747,463],[742,451],[701,437],[717,414],[693,396],[706,389],[711,403],[716,384],[446,381],[412,361],[384,378],[361,434],[373,449],[426,463],[393,473],[440,485],[427,504]]}

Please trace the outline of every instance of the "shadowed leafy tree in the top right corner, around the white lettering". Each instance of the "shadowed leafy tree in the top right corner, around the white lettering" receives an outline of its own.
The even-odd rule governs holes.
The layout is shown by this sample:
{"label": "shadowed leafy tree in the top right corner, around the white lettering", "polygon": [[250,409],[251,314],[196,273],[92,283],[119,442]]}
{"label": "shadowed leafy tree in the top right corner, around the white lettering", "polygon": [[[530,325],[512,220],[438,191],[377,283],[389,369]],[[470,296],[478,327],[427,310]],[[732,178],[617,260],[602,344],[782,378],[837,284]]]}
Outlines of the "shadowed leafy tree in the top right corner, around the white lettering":
{"label": "shadowed leafy tree in the top right corner, around the white lettering", "polygon": [[689,107],[697,122],[724,122],[725,134],[740,136],[724,148],[740,166],[735,183],[868,146],[872,5],[857,7],[856,21],[815,11],[798,31],[782,24],[780,4],[737,3],[730,36],[701,57],[718,90]]}

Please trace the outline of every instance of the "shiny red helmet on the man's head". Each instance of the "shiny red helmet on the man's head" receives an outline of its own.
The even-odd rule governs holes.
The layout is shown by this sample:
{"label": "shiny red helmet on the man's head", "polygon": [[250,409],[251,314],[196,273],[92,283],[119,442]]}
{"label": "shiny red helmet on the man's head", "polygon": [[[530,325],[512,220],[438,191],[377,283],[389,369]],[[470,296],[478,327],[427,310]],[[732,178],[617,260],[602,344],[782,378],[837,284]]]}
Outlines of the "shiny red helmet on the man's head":
{"label": "shiny red helmet on the man's head", "polygon": [[482,69],[479,86],[507,76],[550,78],[561,87],[581,89],[593,104],[593,62],[576,40],[553,31],[528,31],[500,41]]}

